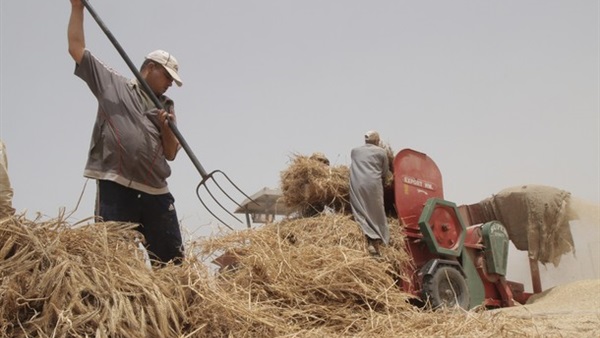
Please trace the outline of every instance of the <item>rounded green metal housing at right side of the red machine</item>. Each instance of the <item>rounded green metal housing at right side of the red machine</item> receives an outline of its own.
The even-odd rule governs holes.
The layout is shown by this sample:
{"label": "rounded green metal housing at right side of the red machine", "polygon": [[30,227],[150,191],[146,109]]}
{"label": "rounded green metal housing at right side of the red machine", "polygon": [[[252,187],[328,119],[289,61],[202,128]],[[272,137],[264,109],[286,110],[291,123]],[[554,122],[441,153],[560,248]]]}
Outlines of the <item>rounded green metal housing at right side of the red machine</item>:
{"label": "rounded green metal housing at right side of the red machine", "polygon": [[509,241],[506,228],[498,221],[491,221],[481,226],[481,234],[487,271],[506,276]]}

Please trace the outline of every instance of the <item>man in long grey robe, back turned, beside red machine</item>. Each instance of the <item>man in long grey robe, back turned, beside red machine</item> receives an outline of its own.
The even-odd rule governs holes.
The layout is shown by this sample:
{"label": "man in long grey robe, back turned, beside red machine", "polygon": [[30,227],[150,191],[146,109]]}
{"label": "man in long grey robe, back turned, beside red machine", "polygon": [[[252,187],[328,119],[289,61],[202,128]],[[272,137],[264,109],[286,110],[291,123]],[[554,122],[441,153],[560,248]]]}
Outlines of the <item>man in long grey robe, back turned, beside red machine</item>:
{"label": "man in long grey robe, back turned, beside red machine", "polygon": [[390,240],[383,201],[388,157],[379,142],[379,133],[368,131],[365,144],[352,149],[350,154],[350,206],[367,238],[367,250],[374,256],[379,256],[379,246],[387,245]]}

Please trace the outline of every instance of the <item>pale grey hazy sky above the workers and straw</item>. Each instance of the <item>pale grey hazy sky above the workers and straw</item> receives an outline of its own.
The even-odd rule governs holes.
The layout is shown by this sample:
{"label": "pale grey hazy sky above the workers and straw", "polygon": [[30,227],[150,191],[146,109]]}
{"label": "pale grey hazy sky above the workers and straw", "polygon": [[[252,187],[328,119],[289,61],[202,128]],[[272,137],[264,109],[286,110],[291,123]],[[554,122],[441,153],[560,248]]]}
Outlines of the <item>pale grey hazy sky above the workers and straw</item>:
{"label": "pale grey hazy sky above the workers and straw", "polygon": [[[395,151],[431,156],[457,204],[522,184],[600,200],[598,1],[92,4],[136,65],[159,48],[178,58],[184,85],[168,94],[180,131],[248,194],[277,187],[293,154],[348,165],[376,129]],[[96,112],[67,52],[70,3],[2,0],[0,11],[14,206],[56,217],[84,188]],[[88,49],[132,76],[89,15],[85,29]],[[210,234],[200,175],[184,152],[171,167],[182,225]],[[90,181],[71,221],[93,214],[94,194]]]}

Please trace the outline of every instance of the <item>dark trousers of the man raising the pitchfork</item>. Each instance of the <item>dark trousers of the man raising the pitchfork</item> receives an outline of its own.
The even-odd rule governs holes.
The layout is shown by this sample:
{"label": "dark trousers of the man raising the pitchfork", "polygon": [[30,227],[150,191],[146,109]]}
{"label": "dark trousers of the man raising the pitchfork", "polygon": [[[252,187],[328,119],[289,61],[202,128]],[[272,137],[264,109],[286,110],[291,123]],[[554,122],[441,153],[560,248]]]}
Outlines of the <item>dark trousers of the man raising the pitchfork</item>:
{"label": "dark trousers of the man raising the pitchfork", "polygon": [[161,263],[183,257],[175,199],[170,193],[150,195],[112,181],[98,180],[96,216],[102,221],[139,224],[150,258]]}

